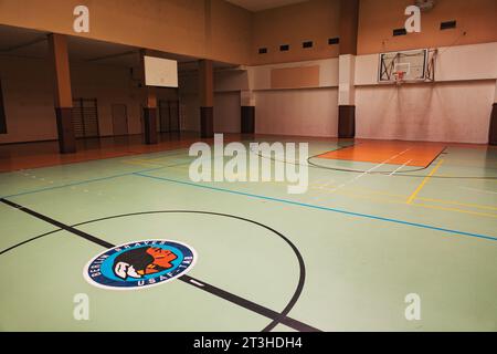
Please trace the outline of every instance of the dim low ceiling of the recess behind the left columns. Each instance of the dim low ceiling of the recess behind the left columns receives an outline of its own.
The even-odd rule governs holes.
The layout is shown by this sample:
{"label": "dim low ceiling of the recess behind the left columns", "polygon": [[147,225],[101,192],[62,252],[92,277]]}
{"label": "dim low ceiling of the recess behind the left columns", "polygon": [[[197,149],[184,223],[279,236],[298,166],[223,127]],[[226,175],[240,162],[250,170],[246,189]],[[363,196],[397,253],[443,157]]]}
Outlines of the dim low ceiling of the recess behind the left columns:
{"label": "dim low ceiling of the recess behind the left columns", "polygon": [[[49,58],[47,32],[0,25],[0,55],[46,59]],[[71,62],[86,62],[113,66],[136,67],[139,65],[139,49],[124,44],[89,40],[81,37],[67,37],[67,50]],[[197,67],[197,58],[154,52],[154,56],[176,60],[179,69]],[[229,64],[215,63],[215,67]]]}

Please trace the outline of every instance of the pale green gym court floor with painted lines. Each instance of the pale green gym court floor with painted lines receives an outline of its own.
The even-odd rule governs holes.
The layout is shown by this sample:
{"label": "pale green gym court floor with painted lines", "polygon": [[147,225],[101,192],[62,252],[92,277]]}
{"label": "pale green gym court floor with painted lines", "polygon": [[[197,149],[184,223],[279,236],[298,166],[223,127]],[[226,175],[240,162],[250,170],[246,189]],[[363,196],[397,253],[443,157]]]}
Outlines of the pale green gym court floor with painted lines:
{"label": "pale green gym court floor with painted lines", "polygon": [[[0,174],[0,330],[497,330],[496,149],[447,146],[395,174],[311,158],[304,195],[193,183],[192,160],[181,149]],[[74,230],[177,240],[199,259],[160,287],[98,289],[82,274],[105,248]],[[88,321],[73,317],[78,293]],[[410,293],[420,321],[404,316]]]}

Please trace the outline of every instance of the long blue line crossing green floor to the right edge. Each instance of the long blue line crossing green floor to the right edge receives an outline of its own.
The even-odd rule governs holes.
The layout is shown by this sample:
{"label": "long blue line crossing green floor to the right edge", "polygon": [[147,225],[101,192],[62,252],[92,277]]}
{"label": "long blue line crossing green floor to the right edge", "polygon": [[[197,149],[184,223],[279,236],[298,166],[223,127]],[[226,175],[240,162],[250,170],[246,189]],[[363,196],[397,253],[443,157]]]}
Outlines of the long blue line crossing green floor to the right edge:
{"label": "long blue line crossing green floor to the right edge", "polygon": [[349,216],[353,216],[353,217],[368,218],[368,219],[387,221],[387,222],[394,222],[394,223],[406,225],[406,226],[412,226],[412,227],[416,227],[416,228],[423,228],[423,229],[430,229],[430,230],[435,230],[435,231],[455,233],[455,235],[467,236],[467,237],[473,237],[473,238],[486,239],[486,240],[490,240],[490,241],[497,241],[497,237],[491,237],[491,236],[486,236],[486,235],[478,235],[478,233],[470,233],[470,232],[465,232],[465,231],[444,229],[444,228],[438,228],[438,227],[435,227],[435,226],[430,226],[430,225],[424,225],[424,223],[416,223],[416,222],[410,222],[410,221],[403,221],[403,220],[396,220],[396,219],[389,219],[389,218],[378,217],[378,216],[368,215],[368,214],[359,214],[359,212],[353,212],[353,211],[347,211],[347,210],[340,210],[340,209],[335,209],[335,208],[316,206],[316,205],[311,205],[311,204],[293,201],[293,200],[288,200],[288,199],[279,199],[279,198],[266,197],[266,196],[254,195],[254,194],[248,194],[248,192],[244,192],[244,191],[237,191],[237,190],[233,190],[233,189],[225,189],[225,188],[204,186],[204,185],[199,185],[199,184],[195,184],[195,183],[177,180],[177,179],[171,179],[171,178],[166,178],[166,177],[148,176],[148,175],[144,175],[142,173],[134,173],[134,175],[140,176],[140,177],[145,177],[145,178],[151,178],[151,179],[163,180],[163,181],[169,181],[169,183],[175,183],[175,184],[180,184],[180,185],[186,185],[186,186],[192,186],[192,187],[198,187],[198,188],[215,190],[215,191],[224,191],[224,192],[239,195],[239,196],[245,196],[245,197],[251,197],[251,198],[257,198],[257,199],[284,202],[284,204],[299,206],[299,207],[305,207],[305,208],[332,211],[332,212],[349,215]]}

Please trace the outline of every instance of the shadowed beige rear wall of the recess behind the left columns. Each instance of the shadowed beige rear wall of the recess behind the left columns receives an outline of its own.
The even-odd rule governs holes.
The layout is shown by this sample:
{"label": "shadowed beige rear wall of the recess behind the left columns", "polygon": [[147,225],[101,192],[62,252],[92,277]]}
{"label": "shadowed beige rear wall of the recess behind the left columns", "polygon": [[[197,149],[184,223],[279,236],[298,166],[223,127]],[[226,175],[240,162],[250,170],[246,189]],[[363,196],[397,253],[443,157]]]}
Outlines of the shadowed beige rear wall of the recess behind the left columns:
{"label": "shadowed beige rear wall of the recess behind the left columns", "polygon": [[[56,139],[53,80],[47,60],[0,56],[8,134],[0,144]],[[127,67],[71,63],[73,97],[97,98],[101,136],[113,135],[112,105],[126,104],[129,134],[141,133],[145,95]],[[176,100],[158,90],[159,100]]]}

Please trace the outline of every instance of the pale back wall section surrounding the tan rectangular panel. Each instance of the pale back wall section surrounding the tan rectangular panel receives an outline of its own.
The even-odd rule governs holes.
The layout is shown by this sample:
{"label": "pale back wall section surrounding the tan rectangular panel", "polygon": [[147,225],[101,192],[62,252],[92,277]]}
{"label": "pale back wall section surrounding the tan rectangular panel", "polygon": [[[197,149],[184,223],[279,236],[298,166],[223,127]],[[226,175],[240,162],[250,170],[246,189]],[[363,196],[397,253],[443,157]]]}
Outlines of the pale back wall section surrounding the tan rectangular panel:
{"label": "pale back wall section surrounding the tan rectangular panel", "polygon": [[[272,71],[288,71],[293,81],[305,82],[299,67],[319,67],[318,81],[309,86],[278,90],[272,86]],[[254,91],[257,134],[334,137],[338,132],[338,58],[248,67]],[[304,80],[302,80],[304,79]]]}

